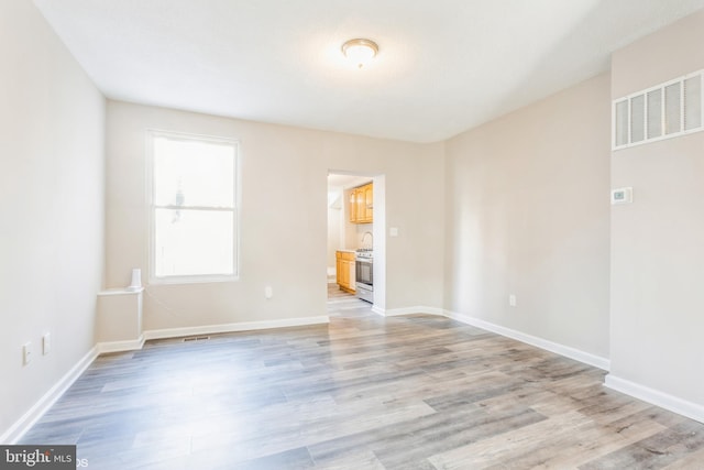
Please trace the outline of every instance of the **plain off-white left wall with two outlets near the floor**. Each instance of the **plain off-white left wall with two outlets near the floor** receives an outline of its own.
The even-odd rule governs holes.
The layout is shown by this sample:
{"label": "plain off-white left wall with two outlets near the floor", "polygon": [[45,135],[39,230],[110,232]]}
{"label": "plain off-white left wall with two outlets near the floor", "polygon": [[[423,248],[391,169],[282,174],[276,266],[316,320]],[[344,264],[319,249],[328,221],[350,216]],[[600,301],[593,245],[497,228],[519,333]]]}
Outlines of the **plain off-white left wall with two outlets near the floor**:
{"label": "plain off-white left wall with two outlets near the floor", "polygon": [[0,2],[0,436],[94,347],[103,128],[102,96],[32,2]]}

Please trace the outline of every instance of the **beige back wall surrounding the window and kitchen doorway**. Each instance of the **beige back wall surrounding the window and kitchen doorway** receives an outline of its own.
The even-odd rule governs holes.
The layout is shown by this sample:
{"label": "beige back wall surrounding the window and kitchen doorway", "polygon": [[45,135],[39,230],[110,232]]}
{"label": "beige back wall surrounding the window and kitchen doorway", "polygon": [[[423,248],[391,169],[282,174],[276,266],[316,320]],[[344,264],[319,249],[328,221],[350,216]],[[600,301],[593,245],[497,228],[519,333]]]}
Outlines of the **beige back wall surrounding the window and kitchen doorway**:
{"label": "beige back wall surrounding the window and kitchen doorway", "polygon": [[[241,278],[152,285],[145,329],[293,319],[327,314],[327,175],[386,175],[386,217],[402,237],[386,245],[382,308],[441,305],[442,145],[271,125],[124,102],[107,113],[107,284],[147,270],[147,129],[240,140]],[[273,286],[274,297],[264,297]]]}

